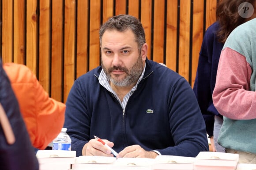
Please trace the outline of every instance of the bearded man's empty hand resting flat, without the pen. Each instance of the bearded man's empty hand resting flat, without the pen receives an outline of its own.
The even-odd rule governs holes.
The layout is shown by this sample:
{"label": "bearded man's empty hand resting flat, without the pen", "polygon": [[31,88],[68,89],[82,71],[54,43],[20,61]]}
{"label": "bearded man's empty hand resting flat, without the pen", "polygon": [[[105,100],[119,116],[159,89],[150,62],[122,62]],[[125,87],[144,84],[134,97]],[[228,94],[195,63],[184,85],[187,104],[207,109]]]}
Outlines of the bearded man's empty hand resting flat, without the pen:
{"label": "bearded man's empty hand resting flat, without the pen", "polygon": [[156,156],[158,156],[156,152],[145,151],[139,145],[132,145],[119,152],[117,158],[155,158]]}

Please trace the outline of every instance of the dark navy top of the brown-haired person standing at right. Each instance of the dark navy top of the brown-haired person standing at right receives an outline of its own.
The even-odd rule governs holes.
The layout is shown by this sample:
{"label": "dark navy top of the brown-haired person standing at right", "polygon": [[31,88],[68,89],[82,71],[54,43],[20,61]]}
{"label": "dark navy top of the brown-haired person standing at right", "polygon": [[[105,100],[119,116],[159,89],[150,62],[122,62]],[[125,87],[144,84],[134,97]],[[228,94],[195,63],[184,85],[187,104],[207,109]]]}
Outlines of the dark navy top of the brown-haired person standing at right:
{"label": "dark navy top of the brown-haired person standing at right", "polygon": [[212,102],[219,56],[224,45],[216,36],[218,29],[219,24],[215,22],[205,32],[193,87],[209,136],[213,136],[214,116],[218,115],[222,118]]}

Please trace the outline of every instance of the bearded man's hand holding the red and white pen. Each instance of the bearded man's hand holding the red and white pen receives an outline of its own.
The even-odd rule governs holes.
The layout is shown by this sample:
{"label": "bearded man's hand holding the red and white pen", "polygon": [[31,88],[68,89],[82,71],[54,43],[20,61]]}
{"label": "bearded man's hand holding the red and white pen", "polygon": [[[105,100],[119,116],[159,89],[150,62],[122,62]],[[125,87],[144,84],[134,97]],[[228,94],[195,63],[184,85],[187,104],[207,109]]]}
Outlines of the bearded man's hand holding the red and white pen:
{"label": "bearded man's hand holding the red and white pen", "polygon": [[[102,139],[110,148],[114,146],[113,142]],[[83,146],[82,149],[83,156],[109,156],[114,157],[111,151],[105,147],[100,141],[97,139],[91,139],[87,144]]]}

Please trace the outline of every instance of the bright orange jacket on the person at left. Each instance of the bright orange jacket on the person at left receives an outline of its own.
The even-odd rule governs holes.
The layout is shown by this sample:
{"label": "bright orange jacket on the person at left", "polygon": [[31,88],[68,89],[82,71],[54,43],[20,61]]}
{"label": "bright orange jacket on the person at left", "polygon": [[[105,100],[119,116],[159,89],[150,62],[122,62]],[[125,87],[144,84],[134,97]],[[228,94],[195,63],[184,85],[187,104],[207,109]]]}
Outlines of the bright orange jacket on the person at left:
{"label": "bright orange jacket on the person at left", "polygon": [[30,140],[35,148],[45,149],[60,133],[66,105],[49,98],[33,72],[25,65],[3,65],[19,101]]}

